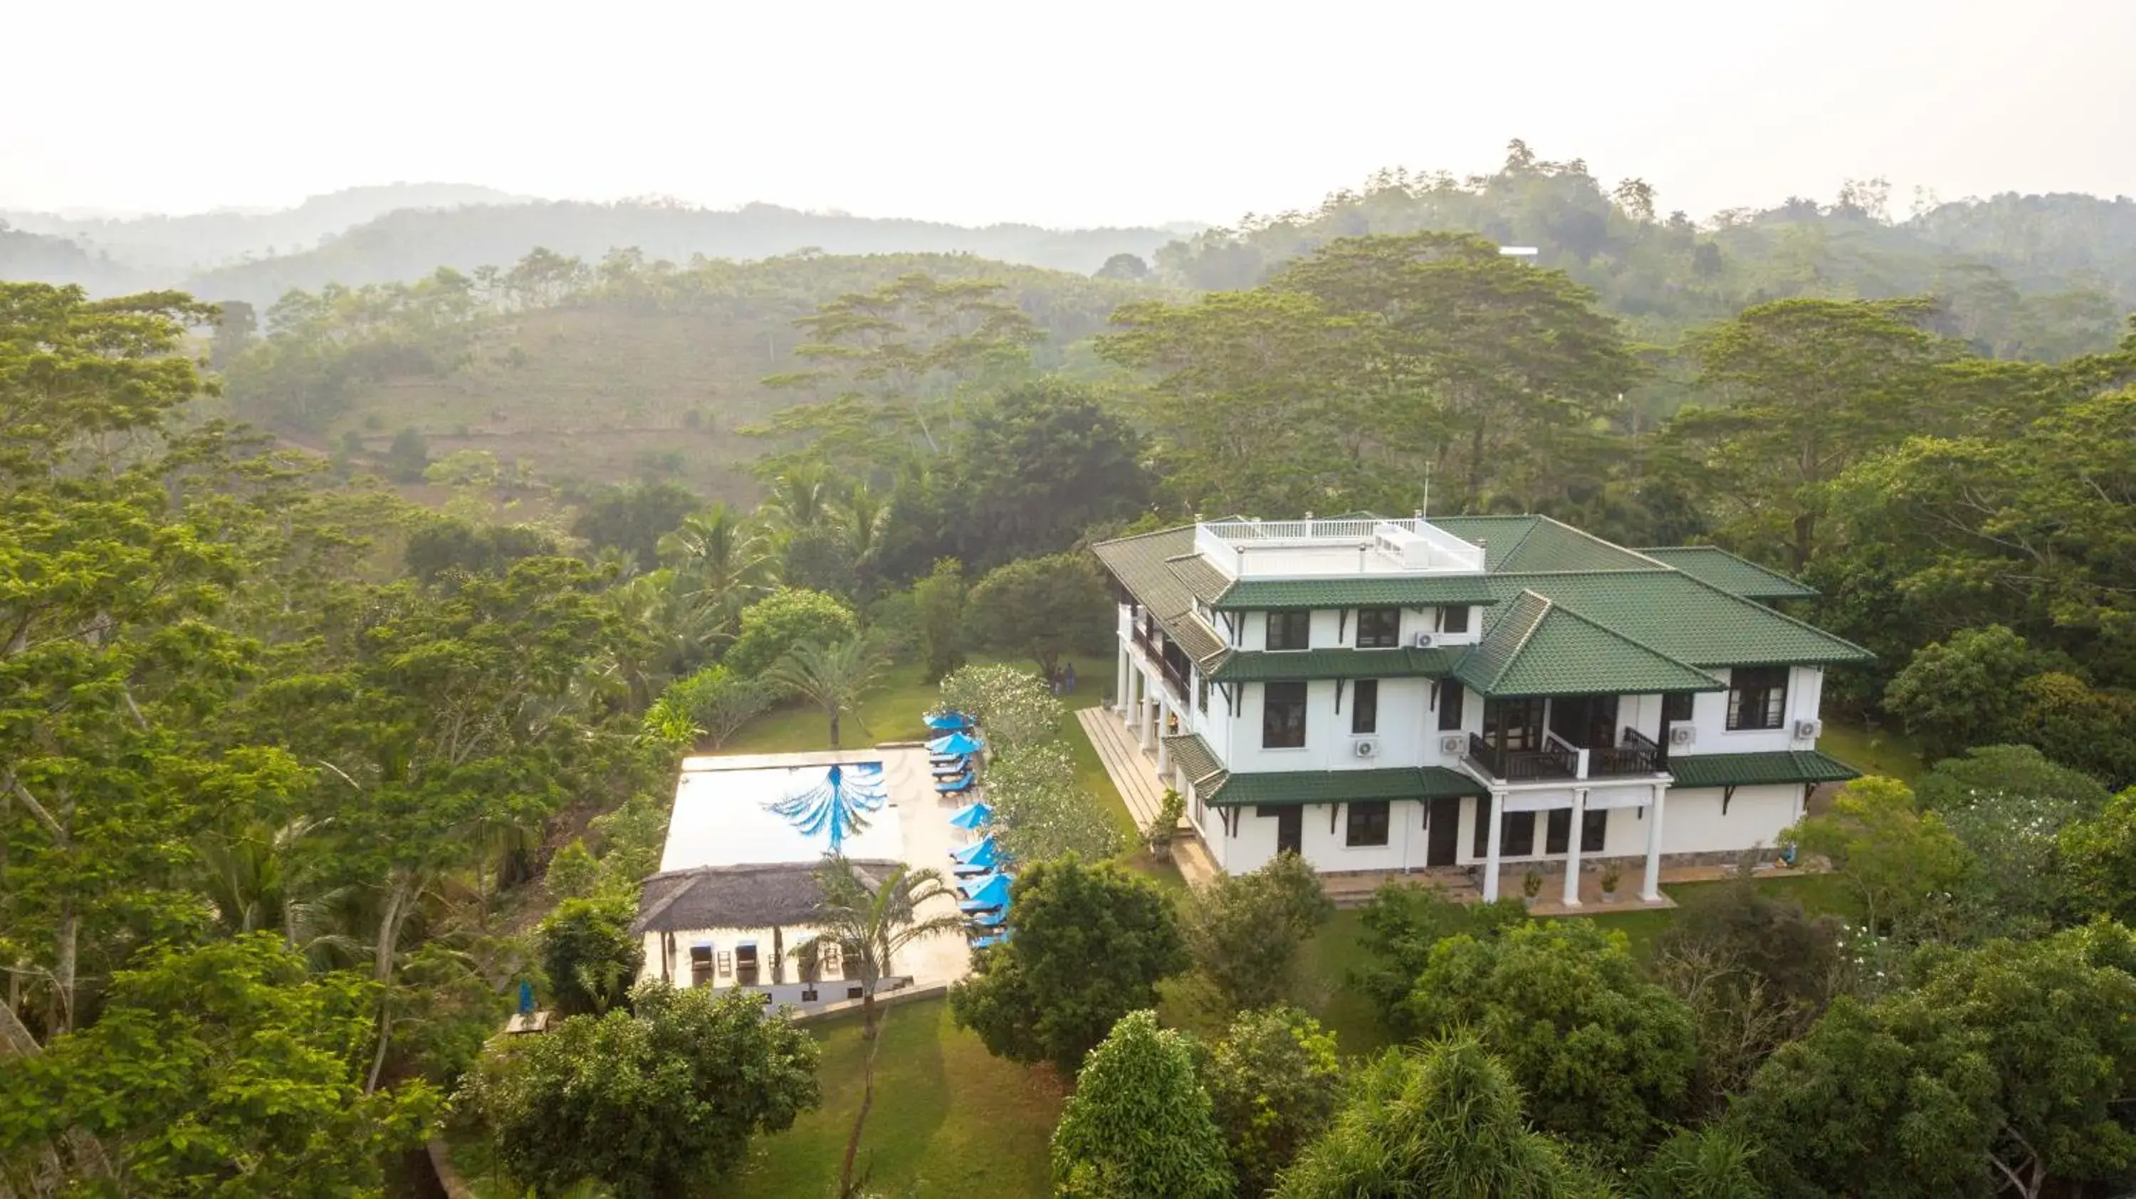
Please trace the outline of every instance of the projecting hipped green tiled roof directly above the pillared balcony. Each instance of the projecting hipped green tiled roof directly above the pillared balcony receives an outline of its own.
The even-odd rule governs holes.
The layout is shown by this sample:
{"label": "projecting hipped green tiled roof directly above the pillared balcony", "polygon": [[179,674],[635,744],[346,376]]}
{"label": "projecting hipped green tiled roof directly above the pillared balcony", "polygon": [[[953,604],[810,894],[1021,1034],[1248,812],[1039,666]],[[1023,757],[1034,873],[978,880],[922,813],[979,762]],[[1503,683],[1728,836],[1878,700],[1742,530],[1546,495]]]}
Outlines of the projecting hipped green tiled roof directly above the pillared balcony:
{"label": "projecting hipped green tiled roof directly above the pillared balcony", "polygon": [[1457,673],[1493,697],[1726,690],[1722,680],[1529,590],[1504,605]]}

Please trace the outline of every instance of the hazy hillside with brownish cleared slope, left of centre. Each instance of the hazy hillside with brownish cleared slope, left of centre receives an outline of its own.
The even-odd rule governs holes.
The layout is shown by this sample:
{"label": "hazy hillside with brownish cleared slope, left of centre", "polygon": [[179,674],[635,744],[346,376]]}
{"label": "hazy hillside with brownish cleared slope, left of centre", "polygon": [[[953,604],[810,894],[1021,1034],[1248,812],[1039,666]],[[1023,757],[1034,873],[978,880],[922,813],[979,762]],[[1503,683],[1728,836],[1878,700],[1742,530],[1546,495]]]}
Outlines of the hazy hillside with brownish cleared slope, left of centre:
{"label": "hazy hillside with brownish cleared slope, left of centre", "polygon": [[218,361],[233,415],[297,445],[378,455],[414,427],[438,457],[478,449],[549,481],[654,474],[739,500],[756,489],[748,462],[775,442],[737,430],[810,398],[763,385],[812,365],[792,355],[795,318],[916,271],[1004,284],[1045,333],[1040,368],[1072,365],[1119,303],[1164,295],[970,254],[617,259],[575,267],[532,308],[470,295],[466,278],[293,297],[250,348],[218,344]]}

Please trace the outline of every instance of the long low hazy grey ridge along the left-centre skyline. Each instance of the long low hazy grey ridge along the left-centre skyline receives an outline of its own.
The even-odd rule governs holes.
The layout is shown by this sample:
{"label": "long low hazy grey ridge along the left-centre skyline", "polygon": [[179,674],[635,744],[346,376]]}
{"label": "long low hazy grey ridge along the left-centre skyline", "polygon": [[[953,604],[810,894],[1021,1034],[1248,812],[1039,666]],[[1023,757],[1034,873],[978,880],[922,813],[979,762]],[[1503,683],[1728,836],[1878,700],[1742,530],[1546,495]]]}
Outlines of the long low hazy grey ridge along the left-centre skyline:
{"label": "long low hazy grey ridge along the left-centre skyline", "polygon": [[472,271],[515,263],[536,246],[598,261],[632,246],[645,259],[769,259],[797,250],[827,254],[976,254],[1002,263],[1091,274],[1113,254],[1147,259],[1175,235],[1166,229],[1074,229],[931,220],[878,220],[752,203],[735,212],[662,203],[515,203],[481,209],[393,212],[327,246],[194,274],[184,286],[203,299],[267,306],[290,289],[329,282],[414,282],[438,267]]}

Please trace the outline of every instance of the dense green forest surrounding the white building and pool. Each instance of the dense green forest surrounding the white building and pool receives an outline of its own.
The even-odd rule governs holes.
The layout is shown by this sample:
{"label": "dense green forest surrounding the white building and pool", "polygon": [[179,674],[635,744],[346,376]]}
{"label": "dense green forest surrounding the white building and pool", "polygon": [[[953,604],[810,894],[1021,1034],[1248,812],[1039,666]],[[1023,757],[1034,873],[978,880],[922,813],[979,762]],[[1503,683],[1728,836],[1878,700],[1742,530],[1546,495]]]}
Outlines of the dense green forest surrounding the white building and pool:
{"label": "dense green forest surrounding the white building and pool", "polygon": [[[261,303],[0,282],[0,1199],[370,1197],[427,1139],[506,1193],[778,1146],[850,1197],[927,1037],[1017,1071],[989,1122],[1062,1114],[1062,1195],[2136,1186],[2130,205],[1888,205],[1694,224],[1514,143],[1077,271],[410,233]],[[1801,575],[1875,652],[1833,733],[1925,759],[1636,949],[1405,885],[1335,923],[1297,855],[1190,889],[1179,795],[1136,827],[1068,714],[1089,543],[1427,487]],[[824,866],[859,1028],[630,985],[677,759],[936,701],[1021,866],[931,1028],[871,987],[936,863]]]}

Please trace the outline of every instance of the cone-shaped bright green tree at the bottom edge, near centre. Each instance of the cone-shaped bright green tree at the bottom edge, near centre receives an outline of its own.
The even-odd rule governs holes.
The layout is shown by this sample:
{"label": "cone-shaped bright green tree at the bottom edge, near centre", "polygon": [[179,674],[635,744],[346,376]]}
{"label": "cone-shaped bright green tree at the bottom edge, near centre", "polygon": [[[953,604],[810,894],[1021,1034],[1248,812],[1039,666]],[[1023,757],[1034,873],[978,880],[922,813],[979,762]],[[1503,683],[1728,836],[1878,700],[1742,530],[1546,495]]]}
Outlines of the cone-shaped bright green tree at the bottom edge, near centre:
{"label": "cone-shaped bright green tree at the bottom edge, near centre", "polygon": [[1053,1193],[1074,1199],[1237,1193],[1185,1037],[1130,1011],[1089,1052],[1053,1128]]}

